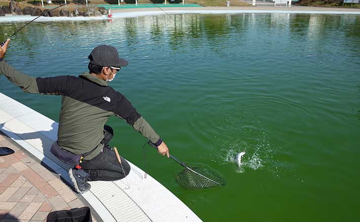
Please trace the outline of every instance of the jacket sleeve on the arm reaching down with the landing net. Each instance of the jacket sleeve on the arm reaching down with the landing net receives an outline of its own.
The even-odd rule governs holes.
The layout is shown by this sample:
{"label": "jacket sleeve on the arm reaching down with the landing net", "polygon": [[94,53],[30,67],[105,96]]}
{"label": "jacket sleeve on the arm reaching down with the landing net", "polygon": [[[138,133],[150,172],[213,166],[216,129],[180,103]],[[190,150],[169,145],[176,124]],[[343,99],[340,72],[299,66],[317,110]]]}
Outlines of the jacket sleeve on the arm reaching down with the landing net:
{"label": "jacket sleeve on the arm reaching down with the landing net", "polygon": [[136,131],[138,131],[143,137],[147,138],[152,143],[156,144],[157,146],[161,144],[162,141],[155,130],[144,118],[142,118],[142,116],[136,111],[131,103],[120,93],[118,93],[117,96],[117,105],[114,113],[117,117],[124,119]]}

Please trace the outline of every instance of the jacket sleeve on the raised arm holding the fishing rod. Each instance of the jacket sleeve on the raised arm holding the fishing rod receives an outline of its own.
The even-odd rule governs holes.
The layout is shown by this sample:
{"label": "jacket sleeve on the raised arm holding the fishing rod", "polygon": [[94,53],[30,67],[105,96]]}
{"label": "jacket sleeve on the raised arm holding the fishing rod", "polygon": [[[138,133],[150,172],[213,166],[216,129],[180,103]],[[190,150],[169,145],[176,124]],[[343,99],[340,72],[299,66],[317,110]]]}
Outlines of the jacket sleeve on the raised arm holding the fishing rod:
{"label": "jacket sleeve on the raised arm holding the fishing rod", "polygon": [[14,69],[5,61],[0,62],[0,73],[23,92],[43,95],[65,95],[73,82],[71,80],[74,80],[74,76],[33,78]]}

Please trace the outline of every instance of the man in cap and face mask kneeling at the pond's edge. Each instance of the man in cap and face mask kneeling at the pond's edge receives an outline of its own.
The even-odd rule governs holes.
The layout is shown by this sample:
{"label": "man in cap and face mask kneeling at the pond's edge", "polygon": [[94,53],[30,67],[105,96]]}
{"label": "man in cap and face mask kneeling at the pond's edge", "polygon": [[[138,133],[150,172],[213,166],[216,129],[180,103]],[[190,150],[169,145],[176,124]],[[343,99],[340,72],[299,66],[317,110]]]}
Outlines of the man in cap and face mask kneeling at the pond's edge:
{"label": "man in cap and face mask kneeling at the pond's edge", "polygon": [[[51,148],[60,160],[77,167],[69,176],[78,193],[90,189],[88,181],[115,181],[130,172],[129,163],[107,145],[114,135],[105,125],[111,115],[124,119],[142,136],[158,147],[158,152],[169,157],[169,150],[149,123],[131,103],[108,85],[121,67],[128,62],[119,58],[111,46],[98,46],[89,55],[89,72],[76,76],[33,78],[9,66],[4,57],[10,39],[0,47],[0,74],[4,74],[23,92],[61,95],[58,140]],[[80,158],[81,157],[81,158]],[[79,161],[80,158],[80,161]],[[120,162],[120,163],[119,163]]]}

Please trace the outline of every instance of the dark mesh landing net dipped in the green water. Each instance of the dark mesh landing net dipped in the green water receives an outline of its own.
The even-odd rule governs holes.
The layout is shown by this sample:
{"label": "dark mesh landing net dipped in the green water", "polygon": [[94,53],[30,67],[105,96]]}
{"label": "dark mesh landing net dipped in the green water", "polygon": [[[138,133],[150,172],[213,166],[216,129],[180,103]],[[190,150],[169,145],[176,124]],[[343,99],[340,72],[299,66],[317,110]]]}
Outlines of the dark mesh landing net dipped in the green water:
{"label": "dark mesh landing net dipped in the green water", "polygon": [[[201,175],[207,177],[210,180],[187,168],[184,168],[181,172],[177,174],[176,183],[187,190],[205,189],[217,187],[220,185],[223,186],[226,184],[225,180],[218,173],[215,173],[206,167],[189,166],[189,168],[196,171],[197,173],[200,173]],[[219,183],[220,185],[214,183],[213,181]]]}

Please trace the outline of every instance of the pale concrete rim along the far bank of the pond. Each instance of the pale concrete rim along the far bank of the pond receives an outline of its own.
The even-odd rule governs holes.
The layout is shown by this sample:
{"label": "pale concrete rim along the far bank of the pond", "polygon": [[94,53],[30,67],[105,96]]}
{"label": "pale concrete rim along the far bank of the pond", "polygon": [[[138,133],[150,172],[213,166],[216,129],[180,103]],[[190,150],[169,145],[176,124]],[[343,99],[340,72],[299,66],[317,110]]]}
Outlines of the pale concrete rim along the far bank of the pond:
{"label": "pale concrete rim along the far bank of the pond", "polygon": [[[324,7],[194,7],[194,8],[163,8],[167,14],[240,14],[240,13],[290,13],[290,14],[352,14],[360,15],[360,9],[353,8],[324,8]],[[112,10],[113,19],[128,18],[137,16],[165,15],[157,8],[140,9],[114,9]],[[12,16],[0,17],[2,22],[30,21],[33,16]],[[36,21],[87,21],[87,20],[106,20],[101,17],[41,17]]]}

